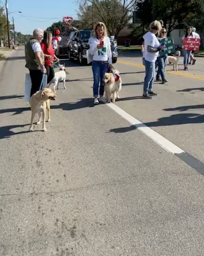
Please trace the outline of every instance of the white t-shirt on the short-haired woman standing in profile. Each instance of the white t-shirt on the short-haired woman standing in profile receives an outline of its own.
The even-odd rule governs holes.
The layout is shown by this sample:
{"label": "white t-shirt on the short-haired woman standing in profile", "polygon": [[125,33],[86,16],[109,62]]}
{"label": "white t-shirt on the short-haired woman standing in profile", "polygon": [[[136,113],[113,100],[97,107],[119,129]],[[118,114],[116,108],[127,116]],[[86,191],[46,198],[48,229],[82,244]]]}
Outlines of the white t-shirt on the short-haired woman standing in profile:
{"label": "white t-shirt on the short-haired woman standing in profile", "polygon": [[156,61],[159,52],[148,52],[147,47],[152,46],[154,48],[160,47],[160,43],[158,39],[156,38],[156,35],[154,35],[152,32],[147,32],[144,36],[144,59],[146,61],[154,62]]}

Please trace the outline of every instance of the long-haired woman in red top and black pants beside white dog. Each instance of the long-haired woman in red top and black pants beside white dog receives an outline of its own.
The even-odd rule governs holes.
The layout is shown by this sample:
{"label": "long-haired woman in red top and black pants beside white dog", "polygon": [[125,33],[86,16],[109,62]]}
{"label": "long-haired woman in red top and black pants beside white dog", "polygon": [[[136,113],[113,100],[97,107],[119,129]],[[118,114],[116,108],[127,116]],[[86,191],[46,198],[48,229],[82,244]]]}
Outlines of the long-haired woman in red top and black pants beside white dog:
{"label": "long-haired woman in red top and black pants beside white dog", "polygon": [[52,47],[52,33],[44,31],[43,40],[41,43],[42,52],[45,56],[45,68],[47,70],[47,83],[54,78],[54,68],[53,61],[54,58],[59,61],[59,59],[54,54],[54,49]]}

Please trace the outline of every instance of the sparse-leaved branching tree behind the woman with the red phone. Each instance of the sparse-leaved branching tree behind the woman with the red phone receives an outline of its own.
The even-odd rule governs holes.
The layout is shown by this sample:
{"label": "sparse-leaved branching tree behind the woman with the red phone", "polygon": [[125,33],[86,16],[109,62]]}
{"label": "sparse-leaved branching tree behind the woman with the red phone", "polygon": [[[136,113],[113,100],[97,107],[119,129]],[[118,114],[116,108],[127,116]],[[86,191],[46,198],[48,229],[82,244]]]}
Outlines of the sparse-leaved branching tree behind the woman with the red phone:
{"label": "sparse-leaved branching tree behind the woman with the red phone", "polygon": [[77,13],[82,24],[93,28],[94,23],[102,21],[110,35],[118,37],[119,32],[132,19],[136,0],[78,0]]}

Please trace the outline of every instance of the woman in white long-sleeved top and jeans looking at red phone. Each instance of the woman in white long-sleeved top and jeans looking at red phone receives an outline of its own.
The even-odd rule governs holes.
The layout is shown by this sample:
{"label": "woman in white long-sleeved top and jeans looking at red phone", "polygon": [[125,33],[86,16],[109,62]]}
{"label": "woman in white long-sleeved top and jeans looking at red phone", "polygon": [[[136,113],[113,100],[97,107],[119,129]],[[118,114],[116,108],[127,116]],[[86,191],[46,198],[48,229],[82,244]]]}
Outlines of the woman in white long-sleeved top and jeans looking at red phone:
{"label": "woman in white long-sleeved top and jeans looking at red phone", "polygon": [[[104,23],[96,23],[96,26],[94,27],[94,35],[89,38],[88,43],[90,54],[93,55],[92,71],[94,75],[94,105],[98,105],[99,101],[106,101],[103,98],[103,77],[108,71],[109,64],[112,64],[111,42],[107,35],[107,29]],[[98,96],[100,96],[99,99]]]}

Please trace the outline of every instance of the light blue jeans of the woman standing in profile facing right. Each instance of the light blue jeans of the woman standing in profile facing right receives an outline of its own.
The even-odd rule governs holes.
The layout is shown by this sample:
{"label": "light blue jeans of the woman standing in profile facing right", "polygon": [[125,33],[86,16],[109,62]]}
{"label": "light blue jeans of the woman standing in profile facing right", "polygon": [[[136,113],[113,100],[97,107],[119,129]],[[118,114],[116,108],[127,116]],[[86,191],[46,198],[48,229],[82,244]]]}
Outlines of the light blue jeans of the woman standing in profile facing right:
{"label": "light blue jeans of the woman standing in profile facing right", "polygon": [[150,62],[144,60],[145,65],[145,78],[144,78],[144,93],[148,93],[148,91],[152,91],[153,81],[155,76],[155,61]]}

